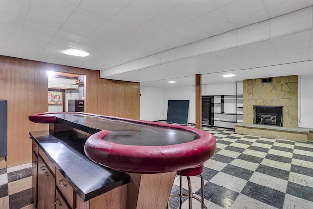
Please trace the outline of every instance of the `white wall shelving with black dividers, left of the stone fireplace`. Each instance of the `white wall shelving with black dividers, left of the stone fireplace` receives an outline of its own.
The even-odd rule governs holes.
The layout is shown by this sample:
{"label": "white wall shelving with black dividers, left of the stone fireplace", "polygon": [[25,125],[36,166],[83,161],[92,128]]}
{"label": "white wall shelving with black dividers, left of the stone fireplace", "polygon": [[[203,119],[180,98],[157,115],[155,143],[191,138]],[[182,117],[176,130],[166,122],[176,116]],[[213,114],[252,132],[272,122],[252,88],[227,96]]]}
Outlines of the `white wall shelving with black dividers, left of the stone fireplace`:
{"label": "white wall shelving with black dividers, left of the stone fireplace", "polygon": [[235,128],[236,122],[242,122],[243,96],[220,95],[214,96],[214,126]]}

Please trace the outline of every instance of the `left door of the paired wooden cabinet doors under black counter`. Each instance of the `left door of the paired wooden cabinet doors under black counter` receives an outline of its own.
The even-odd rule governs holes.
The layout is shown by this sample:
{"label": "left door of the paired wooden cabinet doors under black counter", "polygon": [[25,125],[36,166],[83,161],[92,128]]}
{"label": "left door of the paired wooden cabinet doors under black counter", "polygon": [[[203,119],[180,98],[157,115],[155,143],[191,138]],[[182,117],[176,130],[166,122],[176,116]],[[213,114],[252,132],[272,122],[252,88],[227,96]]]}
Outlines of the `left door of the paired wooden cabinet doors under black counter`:
{"label": "left door of the paired wooden cabinet doors under black counter", "polygon": [[45,209],[45,163],[43,159],[38,156],[38,184],[37,184],[37,208]]}

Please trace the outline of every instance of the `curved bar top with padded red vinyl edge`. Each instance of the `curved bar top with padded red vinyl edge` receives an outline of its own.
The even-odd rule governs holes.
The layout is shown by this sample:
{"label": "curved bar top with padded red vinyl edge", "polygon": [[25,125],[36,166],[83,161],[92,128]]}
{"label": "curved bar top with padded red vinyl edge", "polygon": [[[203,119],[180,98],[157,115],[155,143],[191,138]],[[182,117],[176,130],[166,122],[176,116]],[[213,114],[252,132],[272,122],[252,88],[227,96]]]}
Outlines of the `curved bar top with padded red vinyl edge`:
{"label": "curved bar top with padded red vinyl edge", "polygon": [[92,135],[84,148],[89,159],[130,173],[165,173],[196,167],[208,160],[216,148],[212,134],[181,125],[78,112],[33,114],[29,120],[88,130]]}

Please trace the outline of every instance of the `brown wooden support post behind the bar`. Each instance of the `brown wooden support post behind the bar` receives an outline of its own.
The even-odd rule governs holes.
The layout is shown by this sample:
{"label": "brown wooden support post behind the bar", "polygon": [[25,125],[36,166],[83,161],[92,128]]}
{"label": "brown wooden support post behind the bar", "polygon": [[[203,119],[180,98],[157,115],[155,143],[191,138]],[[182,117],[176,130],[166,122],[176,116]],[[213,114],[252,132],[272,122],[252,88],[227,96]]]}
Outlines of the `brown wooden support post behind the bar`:
{"label": "brown wooden support post behind the bar", "polygon": [[202,129],[202,75],[196,74],[196,128]]}

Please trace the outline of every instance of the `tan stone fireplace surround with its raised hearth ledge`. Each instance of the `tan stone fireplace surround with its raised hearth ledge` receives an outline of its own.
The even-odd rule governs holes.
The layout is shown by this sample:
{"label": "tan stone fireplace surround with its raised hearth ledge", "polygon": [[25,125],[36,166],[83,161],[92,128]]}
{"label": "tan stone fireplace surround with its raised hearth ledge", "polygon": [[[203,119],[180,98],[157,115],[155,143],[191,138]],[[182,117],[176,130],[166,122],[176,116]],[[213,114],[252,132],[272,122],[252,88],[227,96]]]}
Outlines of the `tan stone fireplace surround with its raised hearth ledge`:
{"label": "tan stone fireplace surround with its raised hearth ledge", "polygon": [[[254,124],[254,106],[282,106],[283,126]],[[243,80],[243,123],[235,124],[235,133],[254,136],[313,141],[313,131],[298,128],[298,76]]]}

